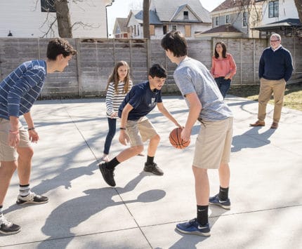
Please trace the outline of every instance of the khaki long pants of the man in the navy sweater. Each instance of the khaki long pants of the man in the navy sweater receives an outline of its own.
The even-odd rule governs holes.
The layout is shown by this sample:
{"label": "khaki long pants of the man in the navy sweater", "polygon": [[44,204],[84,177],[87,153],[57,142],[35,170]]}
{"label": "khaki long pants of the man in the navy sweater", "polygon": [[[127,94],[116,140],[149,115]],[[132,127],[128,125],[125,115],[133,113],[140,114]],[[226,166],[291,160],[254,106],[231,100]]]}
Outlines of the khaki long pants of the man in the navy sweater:
{"label": "khaki long pants of the man in the navy sweater", "polygon": [[278,81],[260,79],[260,93],[258,97],[258,121],[264,121],[266,115],[266,105],[270,100],[270,96],[274,94],[275,107],[273,121],[279,123],[281,110],[283,106],[284,91],[286,81],[280,79]]}

